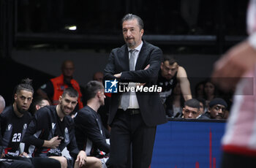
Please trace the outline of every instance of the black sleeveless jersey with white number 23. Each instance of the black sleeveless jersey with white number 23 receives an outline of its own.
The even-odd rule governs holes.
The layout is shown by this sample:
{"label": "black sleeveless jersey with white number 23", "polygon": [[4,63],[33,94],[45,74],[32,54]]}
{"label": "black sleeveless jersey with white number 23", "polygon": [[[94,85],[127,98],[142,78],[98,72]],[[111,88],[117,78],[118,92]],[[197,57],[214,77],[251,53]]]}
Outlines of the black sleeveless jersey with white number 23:
{"label": "black sleeveless jersey with white number 23", "polygon": [[18,156],[20,154],[20,142],[23,140],[31,118],[30,112],[25,112],[19,118],[15,115],[12,105],[4,109],[0,115],[2,153],[10,156]]}

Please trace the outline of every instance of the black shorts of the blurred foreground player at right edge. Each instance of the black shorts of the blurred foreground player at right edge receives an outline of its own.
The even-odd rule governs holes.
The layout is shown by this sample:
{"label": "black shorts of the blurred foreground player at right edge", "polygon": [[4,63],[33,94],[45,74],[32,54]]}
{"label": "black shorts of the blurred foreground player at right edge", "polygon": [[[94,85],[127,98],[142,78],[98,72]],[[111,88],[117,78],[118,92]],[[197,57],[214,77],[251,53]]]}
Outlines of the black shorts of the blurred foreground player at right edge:
{"label": "black shorts of the blurred foreground player at right edge", "polygon": [[256,156],[222,153],[222,168],[255,168]]}

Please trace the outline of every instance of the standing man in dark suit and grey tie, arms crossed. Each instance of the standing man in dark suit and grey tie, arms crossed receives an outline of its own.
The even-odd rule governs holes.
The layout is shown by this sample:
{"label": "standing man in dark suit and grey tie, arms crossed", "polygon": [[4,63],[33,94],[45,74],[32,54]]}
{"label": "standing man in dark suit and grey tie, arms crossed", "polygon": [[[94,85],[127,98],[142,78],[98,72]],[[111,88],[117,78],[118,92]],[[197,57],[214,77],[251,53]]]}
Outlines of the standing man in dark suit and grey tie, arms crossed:
{"label": "standing man in dark suit and grey tie, arms crossed", "polygon": [[[155,86],[162,50],[143,37],[143,20],[127,14],[122,19],[126,45],[113,49],[105,67],[105,80],[136,83],[134,87]],[[121,83],[120,83],[121,82]],[[131,85],[124,85],[128,87]],[[111,126],[108,167],[127,167],[132,144],[132,167],[148,168],[157,124],[167,121],[157,92],[112,93],[108,123]]]}

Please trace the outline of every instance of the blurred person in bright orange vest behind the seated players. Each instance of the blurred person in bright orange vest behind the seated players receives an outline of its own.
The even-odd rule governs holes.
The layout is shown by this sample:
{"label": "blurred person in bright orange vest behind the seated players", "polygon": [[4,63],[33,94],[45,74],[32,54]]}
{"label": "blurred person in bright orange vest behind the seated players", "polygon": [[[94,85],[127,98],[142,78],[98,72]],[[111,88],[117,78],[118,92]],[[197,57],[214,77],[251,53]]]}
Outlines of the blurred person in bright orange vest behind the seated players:
{"label": "blurred person in bright orange vest behind the seated players", "polygon": [[75,72],[73,61],[64,61],[61,65],[61,72],[61,76],[50,79],[48,83],[45,83],[37,89],[37,93],[46,99],[50,99],[51,103],[56,105],[59,104],[59,96],[61,96],[65,88],[74,88],[79,93],[78,107],[74,110],[77,112],[78,108],[83,108],[83,102],[81,101],[82,93],[80,92],[80,85],[73,79],[73,74]]}

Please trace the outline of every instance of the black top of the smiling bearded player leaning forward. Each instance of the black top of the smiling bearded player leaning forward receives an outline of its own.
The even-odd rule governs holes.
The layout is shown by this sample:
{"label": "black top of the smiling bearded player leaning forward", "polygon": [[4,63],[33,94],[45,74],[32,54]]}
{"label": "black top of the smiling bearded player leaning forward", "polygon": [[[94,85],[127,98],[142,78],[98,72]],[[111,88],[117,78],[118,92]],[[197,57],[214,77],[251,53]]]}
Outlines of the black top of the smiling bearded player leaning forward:
{"label": "black top of the smiling bearded player leaning forward", "polygon": [[[56,136],[63,138],[58,148],[42,147],[44,140],[50,140]],[[61,156],[61,151],[65,147],[73,158],[76,158],[79,153],[75,141],[74,121],[69,115],[61,121],[57,115],[56,106],[45,106],[37,110],[26,131],[24,142],[27,145],[34,145],[30,149],[31,156]]]}

